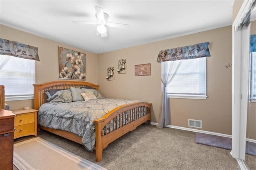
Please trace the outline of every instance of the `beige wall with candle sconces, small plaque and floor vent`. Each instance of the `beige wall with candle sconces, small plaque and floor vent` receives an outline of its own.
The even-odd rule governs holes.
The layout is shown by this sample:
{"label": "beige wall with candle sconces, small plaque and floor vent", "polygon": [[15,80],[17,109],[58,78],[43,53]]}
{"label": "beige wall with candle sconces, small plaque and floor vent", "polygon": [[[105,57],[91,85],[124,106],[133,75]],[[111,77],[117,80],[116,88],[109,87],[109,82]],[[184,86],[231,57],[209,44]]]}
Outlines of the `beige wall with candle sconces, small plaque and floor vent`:
{"label": "beige wall with candle sconces, small plaque and floor vent", "polygon": [[[188,119],[202,120],[202,130],[231,134],[232,27],[224,27],[178,38],[138,45],[98,55],[98,84],[102,95],[125,99],[141,99],[152,103],[152,122],[157,123],[161,100],[161,65],[156,63],[163,49],[210,42],[207,58],[207,96],[199,99],[170,99],[170,125],[188,127]],[[127,73],[106,80],[107,67],[118,67],[127,60]],[[134,76],[134,65],[151,63],[150,76]]]}

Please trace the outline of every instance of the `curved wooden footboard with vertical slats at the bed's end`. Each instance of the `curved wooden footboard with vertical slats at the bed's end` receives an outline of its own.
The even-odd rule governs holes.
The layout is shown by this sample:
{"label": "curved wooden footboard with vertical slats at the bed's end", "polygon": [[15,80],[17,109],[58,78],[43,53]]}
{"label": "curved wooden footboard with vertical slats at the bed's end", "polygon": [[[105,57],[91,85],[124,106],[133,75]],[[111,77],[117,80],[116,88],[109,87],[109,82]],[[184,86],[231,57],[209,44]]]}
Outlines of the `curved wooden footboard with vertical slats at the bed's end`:
{"label": "curved wooden footboard with vertical slats at the bed's end", "polygon": [[136,102],[113,109],[94,121],[96,126],[96,161],[102,160],[102,151],[111,142],[134,130],[142,123],[150,124],[151,103]]}

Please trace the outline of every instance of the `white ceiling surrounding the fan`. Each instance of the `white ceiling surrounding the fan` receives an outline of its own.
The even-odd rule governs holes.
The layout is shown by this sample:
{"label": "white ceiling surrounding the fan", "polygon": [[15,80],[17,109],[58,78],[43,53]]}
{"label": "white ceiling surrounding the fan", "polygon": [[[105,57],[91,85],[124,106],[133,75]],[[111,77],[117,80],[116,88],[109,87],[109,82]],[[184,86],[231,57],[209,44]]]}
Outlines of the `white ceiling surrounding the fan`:
{"label": "white ceiling surrounding the fan", "polygon": [[[232,25],[234,0],[0,0],[0,24],[93,53]],[[94,6],[109,15],[107,37],[96,35]]]}

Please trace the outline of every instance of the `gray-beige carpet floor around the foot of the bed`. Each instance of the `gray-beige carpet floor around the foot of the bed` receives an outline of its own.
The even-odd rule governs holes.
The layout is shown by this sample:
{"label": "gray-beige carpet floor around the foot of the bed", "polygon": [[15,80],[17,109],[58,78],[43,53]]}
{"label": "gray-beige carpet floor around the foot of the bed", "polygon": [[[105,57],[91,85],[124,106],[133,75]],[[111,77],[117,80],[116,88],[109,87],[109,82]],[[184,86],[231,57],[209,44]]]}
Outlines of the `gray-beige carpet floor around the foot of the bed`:
{"label": "gray-beige carpet floor around the foot of the bed", "polygon": [[[194,132],[173,128],[140,125],[110,143],[103,150],[101,162],[95,161],[95,151],[89,152],[81,144],[44,130],[38,136],[108,170],[239,169],[229,150],[196,144]],[[248,160],[252,162],[249,168],[256,170],[256,157],[249,155]]]}

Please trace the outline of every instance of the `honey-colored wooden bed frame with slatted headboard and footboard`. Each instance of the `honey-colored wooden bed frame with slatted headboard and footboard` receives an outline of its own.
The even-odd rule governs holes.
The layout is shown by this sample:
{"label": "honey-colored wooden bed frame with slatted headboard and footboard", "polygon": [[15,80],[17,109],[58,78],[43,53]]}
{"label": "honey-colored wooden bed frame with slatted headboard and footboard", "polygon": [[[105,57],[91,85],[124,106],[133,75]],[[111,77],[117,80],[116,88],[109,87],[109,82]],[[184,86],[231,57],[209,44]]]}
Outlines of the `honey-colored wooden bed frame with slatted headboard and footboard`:
{"label": "honey-colored wooden bed frame with slatted headboard and footboard", "polygon": [[[98,90],[98,85],[94,85],[92,83],[88,83],[84,81],[51,81],[43,84],[34,84],[34,109],[38,110],[42,104],[47,102],[46,101],[47,97],[44,91],[50,90],[50,89],[70,89],[70,87],[79,87],[79,86],[94,87],[95,89]],[[96,127],[95,150],[96,150],[97,162],[100,162],[102,160],[103,149],[106,148],[108,144],[110,144],[120,136],[123,136],[127,132],[136,129],[136,127],[138,127],[142,123],[145,123],[146,121],[148,121],[148,124],[150,124],[151,105],[152,105],[151,103],[147,103],[147,102],[135,102],[135,103],[122,105],[120,107],[113,109],[112,111],[104,115],[104,117],[94,120],[95,127]],[[146,113],[144,115],[140,115],[136,108],[144,109]],[[114,122],[114,119],[118,120],[117,117],[120,117],[121,114],[123,114],[123,118],[126,114],[128,116],[128,111],[132,111],[134,113],[134,117],[132,117],[132,114],[130,114],[131,115],[130,118],[135,119],[134,121],[130,121],[129,123],[126,123],[124,119],[123,120],[119,119],[120,121],[119,125],[122,124],[122,126],[118,127],[116,122],[116,127],[118,128],[116,129],[113,128],[114,130],[106,134],[103,133],[103,128],[106,129],[107,125],[110,125],[111,121]],[[44,130],[47,130],[49,132],[52,132],[54,134],[57,134],[59,136],[62,136],[64,138],[67,138],[69,140],[72,140],[74,142],[82,144],[82,137],[72,132],[46,128],[42,126],[38,126],[38,127]]]}

